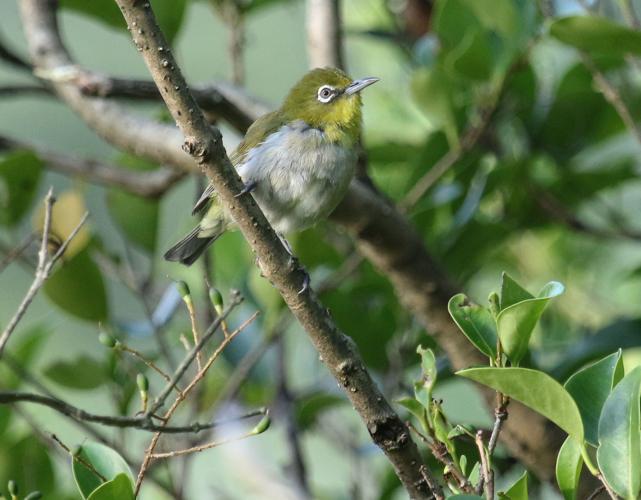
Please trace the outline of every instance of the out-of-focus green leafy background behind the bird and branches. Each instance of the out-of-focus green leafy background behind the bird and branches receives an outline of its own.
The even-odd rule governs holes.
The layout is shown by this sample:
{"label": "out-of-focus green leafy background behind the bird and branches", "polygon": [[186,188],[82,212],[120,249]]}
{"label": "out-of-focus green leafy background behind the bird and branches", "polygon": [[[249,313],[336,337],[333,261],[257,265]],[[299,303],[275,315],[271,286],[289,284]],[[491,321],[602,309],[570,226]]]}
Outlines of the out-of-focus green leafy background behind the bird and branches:
{"label": "out-of-focus green leafy background behind the bird and branches", "polygon": [[[126,30],[91,15],[89,0],[60,3],[63,39],[79,65],[114,77],[149,78]],[[154,8],[156,3],[162,2],[151,1]],[[305,4],[254,3],[244,14],[244,85],[275,108],[310,67]],[[222,4],[168,4],[174,53],[188,81],[229,80],[230,30],[221,16]],[[566,292],[545,311],[528,360],[561,381],[619,347],[625,348],[626,369],[641,362],[641,145],[604,99],[576,46],[562,43],[549,28],[554,17],[599,15],[634,29],[635,8],[641,4],[614,0],[345,0],[341,5],[347,71],[354,78],[381,79],[363,92],[363,143],[372,181],[392,200],[402,200],[455,147],[466,127],[483,120],[483,109],[492,108],[476,145],[410,207],[408,218],[452,280],[476,302],[487,305],[488,294],[500,287],[502,271],[533,293],[550,280],[563,283]],[[26,54],[15,0],[0,0],[0,34],[8,47]],[[575,45],[604,72],[637,118],[641,42],[610,49],[579,42]],[[33,84],[29,72],[0,61],[0,90]],[[125,104],[167,120],[162,104]],[[224,122],[219,125],[228,151],[233,150],[240,136]],[[0,93],[0,136],[124,168],[154,167],[110,147],[65,104],[47,95]],[[17,170],[24,177],[19,180],[26,182],[22,191],[14,189],[10,174]],[[28,369],[31,382],[4,362],[2,387],[33,390],[38,383],[94,413],[135,413],[139,401],[128,373],[139,368],[116,361],[98,343],[98,323],[131,347],[154,355],[149,315],[166,313],[163,334],[178,356],[179,337],[190,333],[190,323],[171,280],[190,284],[202,326],[210,318],[207,274],[224,298],[230,288],[246,297],[230,325],[239,325],[254,310],[261,314],[214,364],[197,411],[224,417],[256,407],[278,408],[285,404],[285,383],[286,408],[297,428],[313,496],[406,498],[301,328],[290,323],[278,340],[265,340],[280,325],[283,303],[260,278],[240,233],[225,234],[215,243],[208,270],[202,263],[187,269],[162,260],[165,250],[196,223],[190,211],[203,179],[190,175],[159,200],[142,200],[51,172],[28,151],[2,152],[0,177],[4,255],[37,229],[49,186],[59,200],[61,225],[78,220],[85,208],[90,212],[87,230],[65,262],[67,275],[54,275],[38,293],[8,345],[11,359]],[[290,237],[313,285],[353,254],[344,233],[328,222]],[[1,325],[33,280],[36,247],[29,246],[0,274]],[[71,262],[76,267],[69,271]],[[144,293],[131,286],[129,270],[139,281],[147,280]],[[387,278],[362,261],[322,300],[359,344],[387,396],[409,392],[419,373],[413,355],[417,344],[436,344],[399,305]],[[229,374],[256,346],[263,346],[260,360],[231,402],[217,405]],[[491,426],[474,387],[451,375],[447,357],[441,355],[439,362],[441,382],[435,394],[444,399],[451,421]],[[160,390],[163,381],[150,378],[151,392]],[[165,487],[146,481],[141,498],[171,498],[167,490],[185,499],[299,498],[287,419],[276,415],[263,435],[199,453],[184,467],[179,460],[157,467],[154,477]],[[0,491],[15,479],[26,490],[41,490],[46,499],[78,499],[69,460],[44,431],[56,433],[69,446],[94,439],[48,408],[0,407]],[[237,431],[223,430],[219,436]],[[150,438],[142,431],[101,432],[137,462]],[[497,460],[503,471],[501,489],[501,481],[508,484],[523,467],[505,449],[499,448]],[[549,485],[532,481],[534,496],[558,497]]]}

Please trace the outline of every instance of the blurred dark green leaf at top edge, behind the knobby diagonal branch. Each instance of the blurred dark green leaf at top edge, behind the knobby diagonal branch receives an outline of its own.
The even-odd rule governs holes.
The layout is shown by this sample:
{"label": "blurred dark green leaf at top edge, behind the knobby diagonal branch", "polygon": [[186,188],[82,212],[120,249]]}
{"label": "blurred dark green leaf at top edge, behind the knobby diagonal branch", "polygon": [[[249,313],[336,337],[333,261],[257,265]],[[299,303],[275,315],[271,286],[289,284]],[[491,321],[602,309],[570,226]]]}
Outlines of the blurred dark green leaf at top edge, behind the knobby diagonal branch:
{"label": "blurred dark green leaf at top edge, behind the knobby diagonal branch", "polygon": [[[187,0],[149,0],[168,42],[172,42],[185,15]],[[95,17],[113,28],[126,31],[127,23],[112,0],[60,0],[60,6]]]}

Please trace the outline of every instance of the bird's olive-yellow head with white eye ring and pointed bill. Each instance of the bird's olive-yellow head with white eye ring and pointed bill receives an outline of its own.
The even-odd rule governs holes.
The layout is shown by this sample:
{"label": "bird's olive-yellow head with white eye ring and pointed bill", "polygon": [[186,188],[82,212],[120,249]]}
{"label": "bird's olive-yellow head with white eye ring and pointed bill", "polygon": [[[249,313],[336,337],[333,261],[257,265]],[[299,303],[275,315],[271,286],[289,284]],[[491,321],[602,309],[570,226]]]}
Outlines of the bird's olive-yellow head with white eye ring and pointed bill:
{"label": "bird's olive-yellow head with white eye ring and pointed bill", "polygon": [[332,140],[353,145],[360,134],[360,90],[376,81],[352,80],[336,68],[313,69],[292,87],[281,109],[288,120],[304,120]]}

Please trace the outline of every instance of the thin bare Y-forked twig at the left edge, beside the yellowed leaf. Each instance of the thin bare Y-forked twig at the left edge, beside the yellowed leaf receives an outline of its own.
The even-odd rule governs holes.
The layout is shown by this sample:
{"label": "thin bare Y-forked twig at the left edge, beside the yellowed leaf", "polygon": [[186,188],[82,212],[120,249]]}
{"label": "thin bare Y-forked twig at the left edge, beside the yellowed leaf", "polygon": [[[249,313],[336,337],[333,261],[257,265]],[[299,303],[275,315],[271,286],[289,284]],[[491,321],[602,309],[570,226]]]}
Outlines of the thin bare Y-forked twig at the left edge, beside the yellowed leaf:
{"label": "thin bare Y-forked twig at the left edge, beside the yellowed leaf", "polygon": [[47,255],[49,253],[49,229],[51,229],[51,209],[53,207],[54,201],[55,199],[53,197],[53,187],[51,187],[49,189],[47,197],[44,200],[46,206],[44,230],[42,231],[42,245],[40,246],[40,252],[38,253],[38,267],[36,268],[36,276],[33,280],[33,283],[31,284],[31,287],[29,287],[27,294],[24,296],[22,303],[18,307],[18,310],[15,312],[13,318],[11,319],[11,321],[9,321],[9,324],[4,329],[2,336],[0,336],[0,358],[2,357],[4,346],[6,346],[6,343],[9,340],[10,335],[13,333],[13,330],[22,319],[22,316],[24,316],[24,313],[26,312],[33,298],[38,293],[40,287],[49,277],[49,274],[51,274],[51,268],[53,268],[58,259],[62,257],[62,254],[65,253],[65,250],[67,250],[67,246],[69,246],[69,242],[74,238],[74,236],[76,236],[85,221],[87,221],[87,217],[89,216],[88,212],[85,213],[76,228],[72,230],[69,238],[66,239],[66,241],[60,246],[60,248],[58,248],[58,252],[56,252],[53,257],[49,259],[49,262],[47,262]]}

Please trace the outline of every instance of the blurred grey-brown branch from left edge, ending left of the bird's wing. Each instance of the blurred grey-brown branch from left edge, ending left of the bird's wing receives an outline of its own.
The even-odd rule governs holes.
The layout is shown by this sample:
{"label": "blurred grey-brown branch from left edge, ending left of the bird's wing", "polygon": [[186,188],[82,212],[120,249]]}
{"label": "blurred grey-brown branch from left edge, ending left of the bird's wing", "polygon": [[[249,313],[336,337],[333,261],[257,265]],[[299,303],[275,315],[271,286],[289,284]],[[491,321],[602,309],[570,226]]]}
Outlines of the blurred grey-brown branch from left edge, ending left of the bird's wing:
{"label": "blurred grey-brown branch from left edge, ending left of the bird's wing", "polygon": [[125,170],[101,161],[63,154],[46,147],[31,145],[0,136],[0,150],[32,150],[47,167],[55,172],[77,177],[93,184],[121,188],[147,198],[162,196],[187,172],[169,166],[160,166],[149,172]]}

